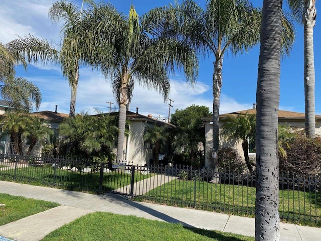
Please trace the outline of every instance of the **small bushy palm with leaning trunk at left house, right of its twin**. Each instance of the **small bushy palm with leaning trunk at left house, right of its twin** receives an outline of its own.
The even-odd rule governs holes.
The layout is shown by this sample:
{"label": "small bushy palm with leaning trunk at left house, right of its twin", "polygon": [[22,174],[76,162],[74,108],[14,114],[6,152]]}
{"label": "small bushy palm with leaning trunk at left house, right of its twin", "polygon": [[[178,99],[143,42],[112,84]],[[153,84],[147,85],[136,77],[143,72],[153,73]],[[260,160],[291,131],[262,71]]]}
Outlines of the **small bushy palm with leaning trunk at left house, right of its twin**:
{"label": "small bushy palm with leaning trunk at left house, right of its twin", "polygon": [[28,117],[28,125],[23,133],[23,136],[29,138],[30,140],[30,145],[27,150],[27,155],[30,155],[37,142],[42,138],[46,138],[48,135],[53,135],[54,131],[38,117]]}

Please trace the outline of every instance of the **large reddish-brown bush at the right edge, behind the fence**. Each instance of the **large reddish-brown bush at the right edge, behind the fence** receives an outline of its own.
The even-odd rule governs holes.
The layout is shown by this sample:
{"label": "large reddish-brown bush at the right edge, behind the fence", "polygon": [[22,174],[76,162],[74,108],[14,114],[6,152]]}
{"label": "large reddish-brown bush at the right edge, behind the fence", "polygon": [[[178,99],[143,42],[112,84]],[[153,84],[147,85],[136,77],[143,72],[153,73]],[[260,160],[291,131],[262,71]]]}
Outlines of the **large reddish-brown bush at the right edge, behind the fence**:
{"label": "large reddish-brown bush at the right edge, behind the fence", "polygon": [[319,175],[321,173],[321,137],[296,136],[284,148],[287,158],[280,158],[280,173],[290,175]]}

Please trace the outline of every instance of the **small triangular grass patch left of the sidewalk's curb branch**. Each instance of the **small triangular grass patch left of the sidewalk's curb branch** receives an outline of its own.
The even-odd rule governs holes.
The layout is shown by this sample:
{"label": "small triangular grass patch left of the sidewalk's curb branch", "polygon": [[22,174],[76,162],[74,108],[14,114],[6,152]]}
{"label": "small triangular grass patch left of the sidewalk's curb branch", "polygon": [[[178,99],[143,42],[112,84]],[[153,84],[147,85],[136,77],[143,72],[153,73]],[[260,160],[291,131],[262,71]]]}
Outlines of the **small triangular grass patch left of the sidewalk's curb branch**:
{"label": "small triangular grass patch left of the sidewalk's curb branch", "polygon": [[6,206],[0,206],[0,225],[59,206],[58,203],[54,202],[11,196],[4,193],[0,193],[0,203],[6,204]]}

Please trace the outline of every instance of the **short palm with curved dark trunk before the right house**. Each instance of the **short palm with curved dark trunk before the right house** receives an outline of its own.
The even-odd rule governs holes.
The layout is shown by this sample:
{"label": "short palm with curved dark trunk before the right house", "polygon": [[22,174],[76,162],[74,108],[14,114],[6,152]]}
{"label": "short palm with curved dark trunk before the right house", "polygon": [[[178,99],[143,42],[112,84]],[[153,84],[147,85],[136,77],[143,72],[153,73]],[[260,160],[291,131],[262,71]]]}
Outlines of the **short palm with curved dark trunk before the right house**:
{"label": "short palm with curved dark trunk before the right house", "polygon": [[255,115],[253,114],[239,114],[236,117],[230,116],[222,124],[221,135],[228,139],[233,138],[235,141],[242,142],[242,149],[245,158],[245,163],[249,171],[252,173],[252,163],[249,158],[249,143],[248,139],[253,136],[255,132]]}

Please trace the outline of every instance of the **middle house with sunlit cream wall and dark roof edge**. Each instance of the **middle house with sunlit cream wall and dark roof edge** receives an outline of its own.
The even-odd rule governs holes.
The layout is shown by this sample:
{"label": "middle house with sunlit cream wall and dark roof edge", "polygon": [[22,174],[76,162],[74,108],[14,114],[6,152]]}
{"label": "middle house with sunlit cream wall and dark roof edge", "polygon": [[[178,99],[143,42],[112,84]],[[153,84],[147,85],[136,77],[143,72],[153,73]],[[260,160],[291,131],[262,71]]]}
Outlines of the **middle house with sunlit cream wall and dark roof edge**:
{"label": "middle house with sunlit cream wall and dark roof edge", "polygon": [[[119,112],[111,114],[117,116]],[[127,110],[126,120],[129,123],[129,136],[125,137],[124,140],[123,160],[133,163],[133,165],[149,165],[152,159],[152,148],[144,142],[145,128],[153,125],[166,125],[171,128],[174,126],[152,118],[151,114],[148,114],[148,116],[139,114],[138,108],[136,108],[136,113]],[[114,150],[114,153],[116,153],[116,150]]]}

